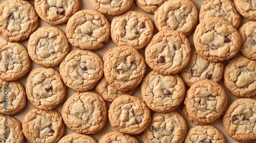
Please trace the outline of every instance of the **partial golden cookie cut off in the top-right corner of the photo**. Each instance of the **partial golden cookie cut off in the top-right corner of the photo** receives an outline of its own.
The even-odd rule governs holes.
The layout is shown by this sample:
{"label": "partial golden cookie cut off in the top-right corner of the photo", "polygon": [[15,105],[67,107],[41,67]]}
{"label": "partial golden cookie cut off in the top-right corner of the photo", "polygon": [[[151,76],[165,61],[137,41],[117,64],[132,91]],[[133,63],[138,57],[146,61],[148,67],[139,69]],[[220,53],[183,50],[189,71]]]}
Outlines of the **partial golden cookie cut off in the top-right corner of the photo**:
{"label": "partial golden cookie cut off in the top-right corner of the photo", "polygon": [[234,0],[238,12],[250,20],[256,20],[256,3],[253,0]]}

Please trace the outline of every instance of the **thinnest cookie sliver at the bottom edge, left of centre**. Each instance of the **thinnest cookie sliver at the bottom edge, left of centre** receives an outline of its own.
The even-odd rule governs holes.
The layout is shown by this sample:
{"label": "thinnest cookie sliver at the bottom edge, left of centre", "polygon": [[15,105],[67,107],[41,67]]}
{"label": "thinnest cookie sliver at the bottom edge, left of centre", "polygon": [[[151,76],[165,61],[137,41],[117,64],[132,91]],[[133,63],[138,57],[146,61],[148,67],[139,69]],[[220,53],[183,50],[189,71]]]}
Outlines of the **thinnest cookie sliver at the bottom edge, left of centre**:
{"label": "thinnest cookie sliver at the bottom edge, left of centre", "polygon": [[63,136],[58,143],[80,143],[80,142],[88,142],[88,143],[97,143],[97,141],[85,134],[71,133],[66,136]]}

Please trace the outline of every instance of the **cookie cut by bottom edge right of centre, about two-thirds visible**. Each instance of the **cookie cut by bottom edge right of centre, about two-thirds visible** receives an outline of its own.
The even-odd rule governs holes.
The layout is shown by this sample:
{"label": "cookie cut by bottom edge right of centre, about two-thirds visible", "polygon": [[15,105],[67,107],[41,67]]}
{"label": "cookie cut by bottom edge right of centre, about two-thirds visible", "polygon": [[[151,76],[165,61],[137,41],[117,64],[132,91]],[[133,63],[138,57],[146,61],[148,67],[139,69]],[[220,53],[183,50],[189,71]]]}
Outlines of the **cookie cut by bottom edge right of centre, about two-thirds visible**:
{"label": "cookie cut by bottom edge right of centre, about two-thirds visible", "polygon": [[186,132],[186,121],[178,112],[156,112],[152,115],[152,121],[141,137],[145,143],[183,142]]}

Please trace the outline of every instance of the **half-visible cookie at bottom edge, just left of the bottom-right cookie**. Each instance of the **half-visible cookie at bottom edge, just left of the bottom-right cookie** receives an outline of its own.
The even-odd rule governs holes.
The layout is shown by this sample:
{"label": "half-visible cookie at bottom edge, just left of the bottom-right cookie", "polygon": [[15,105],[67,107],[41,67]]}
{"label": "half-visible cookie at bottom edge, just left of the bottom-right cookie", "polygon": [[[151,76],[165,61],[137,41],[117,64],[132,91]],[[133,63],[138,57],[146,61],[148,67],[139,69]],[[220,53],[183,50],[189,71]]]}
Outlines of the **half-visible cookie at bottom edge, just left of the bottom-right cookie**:
{"label": "half-visible cookie at bottom edge, just left of the bottom-right cookie", "polygon": [[184,142],[226,142],[224,135],[212,125],[196,126],[188,130]]}

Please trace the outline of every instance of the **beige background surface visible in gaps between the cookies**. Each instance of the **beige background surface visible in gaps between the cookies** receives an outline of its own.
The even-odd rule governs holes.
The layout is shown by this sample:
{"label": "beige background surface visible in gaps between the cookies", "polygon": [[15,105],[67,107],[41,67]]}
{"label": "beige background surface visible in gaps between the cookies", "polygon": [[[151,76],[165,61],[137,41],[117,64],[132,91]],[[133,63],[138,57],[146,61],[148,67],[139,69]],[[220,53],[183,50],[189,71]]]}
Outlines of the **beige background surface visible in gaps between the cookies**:
{"label": "beige background surface visible in gaps between the cookies", "polygon": [[[156,0],[156,1],[157,1],[157,0]],[[3,2],[4,2],[3,0],[0,0],[0,4],[3,3]],[[29,2],[30,2],[32,5],[34,5],[34,1],[29,1]],[[198,0],[193,0],[193,2],[194,2],[195,5],[197,6],[197,9],[198,9],[198,12],[199,12],[199,9],[200,9],[200,7],[201,7],[201,4],[202,4],[203,0],[199,0],[199,1],[198,1]],[[91,7],[91,5],[90,5],[90,3],[88,2],[88,0],[80,0],[80,8],[79,8],[79,10],[83,10],[83,9],[91,9],[91,10],[94,10],[94,9]],[[136,10],[136,11],[139,11],[139,12],[141,12],[141,13],[143,13],[143,14],[146,14],[146,15],[148,15],[148,16],[153,20],[153,22],[154,22],[154,15],[153,15],[153,14],[147,14],[147,13],[145,13],[145,12],[142,12],[142,11],[136,6],[135,2],[134,2],[134,4],[132,5],[132,8],[131,8],[130,10]],[[110,16],[110,15],[105,15],[105,16],[108,18],[108,20],[109,20],[110,22],[111,22],[111,20],[113,19],[113,16]],[[243,25],[243,23],[245,23],[245,22],[247,22],[247,21],[249,21],[249,20],[243,18],[240,27]],[[42,27],[42,26],[51,26],[51,25],[49,25],[48,23],[46,23],[46,22],[44,22],[44,21],[42,21],[42,20],[40,19],[39,27]],[[66,33],[66,23],[65,23],[65,24],[62,24],[62,25],[57,25],[57,26],[54,26],[54,27],[58,27],[58,28],[60,28],[62,31],[64,31],[64,32]],[[154,27],[154,34],[156,34],[157,32],[158,32],[158,30],[156,29],[156,27]],[[189,39],[191,45],[193,45],[193,44],[194,44],[194,42],[193,42],[193,33],[188,36],[188,39]],[[2,37],[0,37],[0,41],[3,41],[3,40],[5,40],[5,39],[3,39]],[[23,42],[21,42],[21,43],[27,48],[28,40],[25,40],[25,41],[23,41]],[[100,55],[101,58],[102,58],[104,52],[105,52],[106,50],[108,50],[110,47],[113,47],[113,46],[117,46],[117,45],[116,45],[115,43],[113,43],[113,41],[110,39],[110,41],[109,41],[108,43],[106,43],[106,45],[105,45],[102,49],[96,50],[96,51],[94,51],[94,52],[97,53],[98,55]],[[70,51],[75,50],[75,49],[76,49],[76,47],[74,47],[74,46],[71,45]],[[139,50],[139,52],[144,56],[144,48],[141,49],[141,50]],[[33,69],[33,68],[35,68],[35,67],[40,67],[40,66],[37,65],[36,63],[32,62],[31,69]],[[55,70],[59,71],[59,67],[58,67],[58,66],[53,67],[53,68],[54,68]],[[31,69],[30,69],[30,70],[31,70]],[[147,66],[147,71],[146,71],[145,74],[147,74],[149,71],[151,71],[151,69],[150,69],[150,67]],[[21,78],[21,79],[18,80],[20,83],[23,84],[24,87],[25,87],[25,83],[26,83],[26,78],[27,78],[27,76],[28,76],[28,74],[27,74],[25,77],[23,77],[23,78]],[[224,87],[222,81],[220,82],[220,84]],[[72,89],[70,89],[70,88],[67,88],[67,89],[68,89],[68,90],[67,90],[67,96],[66,96],[64,102],[65,102],[73,93],[75,93],[74,90],[72,90]],[[232,103],[234,100],[238,99],[238,98],[234,97],[225,87],[224,87],[224,89],[225,89],[225,91],[226,91],[226,93],[227,93],[227,95],[228,95],[228,105],[229,105],[230,103]],[[92,89],[91,91],[96,92],[95,89]],[[140,86],[137,87],[137,89],[136,89],[135,93],[133,94],[133,96],[142,98],[142,97],[141,97],[141,92],[140,92]],[[256,97],[254,96],[254,97],[252,97],[252,99],[255,99],[255,100],[256,100]],[[63,102],[63,103],[64,103],[64,102]],[[61,113],[62,105],[63,105],[63,104],[61,104],[61,105],[59,105],[59,106],[56,107],[56,110],[59,111],[60,113]],[[110,106],[110,103],[107,103],[107,105],[108,105],[108,107],[109,107],[109,106]],[[17,120],[19,120],[20,123],[22,123],[23,118],[24,118],[24,115],[25,115],[30,109],[32,109],[32,108],[34,108],[34,107],[27,101],[26,107],[25,107],[20,113],[18,113],[18,114],[16,114],[16,115],[13,115],[13,116],[16,117]],[[181,106],[178,107],[178,108],[176,109],[176,111],[178,111],[183,117],[185,117],[184,114],[182,113]],[[186,118],[185,118],[185,120],[186,120],[187,128],[188,128],[188,129],[197,126],[197,125],[195,125],[195,124],[189,122]],[[216,120],[214,123],[211,123],[211,125],[214,125],[215,127],[217,127],[217,128],[224,134],[224,136],[226,137],[227,142],[238,142],[238,141],[236,141],[236,140],[230,138],[230,137],[226,134],[225,129],[224,129],[223,124],[222,124],[222,118],[218,118],[218,120]],[[91,136],[92,136],[96,141],[98,141],[99,138],[100,138],[104,133],[109,132],[109,131],[113,131],[113,130],[115,130],[115,129],[111,127],[111,125],[110,125],[109,122],[107,122],[106,125],[104,126],[104,128],[103,128],[101,131],[99,131],[99,132],[96,133],[96,134],[92,134]],[[70,133],[73,133],[73,131],[70,130],[68,127],[66,127],[66,128],[65,128],[65,135],[70,134]],[[141,139],[141,137],[140,137],[140,135],[135,135],[135,136],[140,140],[140,142],[143,142],[142,139]],[[29,141],[26,140],[26,142],[29,142]],[[255,140],[254,142],[256,142],[256,140]]]}

